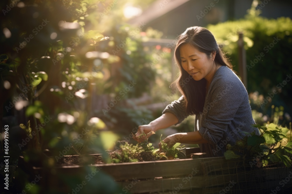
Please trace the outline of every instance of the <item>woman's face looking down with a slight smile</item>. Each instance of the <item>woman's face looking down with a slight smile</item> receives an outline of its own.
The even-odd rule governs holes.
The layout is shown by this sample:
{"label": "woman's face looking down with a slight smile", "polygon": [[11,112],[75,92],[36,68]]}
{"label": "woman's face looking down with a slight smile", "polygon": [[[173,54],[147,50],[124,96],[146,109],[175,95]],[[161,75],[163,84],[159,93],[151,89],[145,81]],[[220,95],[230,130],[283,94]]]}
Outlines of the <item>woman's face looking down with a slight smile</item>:
{"label": "woman's face looking down with a slight smile", "polygon": [[214,75],[214,69],[212,69],[214,57],[211,55],[211,58],[208,58],[205,53],[200,52],[189,43],[180,46],[180,59],[183,69],[196,81],[205,78],[207,82],[211,83]]}

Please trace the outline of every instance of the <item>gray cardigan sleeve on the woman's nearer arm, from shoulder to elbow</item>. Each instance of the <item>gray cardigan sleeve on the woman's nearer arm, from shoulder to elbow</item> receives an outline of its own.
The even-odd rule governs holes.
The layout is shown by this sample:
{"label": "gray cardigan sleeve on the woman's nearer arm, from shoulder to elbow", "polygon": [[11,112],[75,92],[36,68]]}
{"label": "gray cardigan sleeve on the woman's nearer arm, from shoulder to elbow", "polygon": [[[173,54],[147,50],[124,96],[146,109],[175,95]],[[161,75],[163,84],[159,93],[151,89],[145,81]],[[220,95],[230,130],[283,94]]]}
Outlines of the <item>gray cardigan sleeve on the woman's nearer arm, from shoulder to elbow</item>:
{"label": "gray cardigan sleeve on the woman's nearer arm, from shoulder to elbow", "polygon": [[210,144],[217,144],[227,131],[239,107],[244,101],[246,89],[238,81],[216,80],[210,94],[211,101],[203,109],[206,120],[202,122],[199,133]]}

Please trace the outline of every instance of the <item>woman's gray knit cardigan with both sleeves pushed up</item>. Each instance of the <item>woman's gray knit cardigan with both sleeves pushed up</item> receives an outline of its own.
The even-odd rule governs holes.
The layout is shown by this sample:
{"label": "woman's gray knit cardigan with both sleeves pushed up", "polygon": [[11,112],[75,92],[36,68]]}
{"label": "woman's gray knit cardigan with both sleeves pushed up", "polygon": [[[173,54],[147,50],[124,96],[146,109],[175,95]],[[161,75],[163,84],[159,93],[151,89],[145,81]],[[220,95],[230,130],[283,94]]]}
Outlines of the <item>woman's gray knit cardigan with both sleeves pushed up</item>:
{"label": "woman's gray knit cardigan with both sleeves pushed up", "polygon": [[[175,125],[188,116],[183,101],[184,97],[181,96],[162,112],[173,113],[179,120]],[[224,156],[227,144],[235,145],[237,140],[244,138],[245,134],[241,131],[255,131],[260,135],[252,124],[255,122],[246,88],[232,70],[226,66],[220,67],[209,86],[203,112],[197,114],[195,119],[195,131],[199,129],[199,133],[208,141],[200,144],[201,152],[206,152],[209,157]]]}

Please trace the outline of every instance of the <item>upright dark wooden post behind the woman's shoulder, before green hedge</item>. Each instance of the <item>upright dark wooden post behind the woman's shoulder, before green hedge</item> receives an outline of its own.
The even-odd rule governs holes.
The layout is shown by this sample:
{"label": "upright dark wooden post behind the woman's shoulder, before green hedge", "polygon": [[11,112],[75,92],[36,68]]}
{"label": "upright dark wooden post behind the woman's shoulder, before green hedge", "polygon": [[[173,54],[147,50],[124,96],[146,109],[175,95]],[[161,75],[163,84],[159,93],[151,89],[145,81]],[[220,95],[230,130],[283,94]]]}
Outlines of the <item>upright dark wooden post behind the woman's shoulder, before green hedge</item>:
{"label": "upright dark wooden post behind the woman's shoulder, before green hedge", "polygon": [[238,33],[238,65],[239,65],[239,75],[241,81],[247,90],[247,76],[246,76],[246,54],[244,49],[243,33]]}

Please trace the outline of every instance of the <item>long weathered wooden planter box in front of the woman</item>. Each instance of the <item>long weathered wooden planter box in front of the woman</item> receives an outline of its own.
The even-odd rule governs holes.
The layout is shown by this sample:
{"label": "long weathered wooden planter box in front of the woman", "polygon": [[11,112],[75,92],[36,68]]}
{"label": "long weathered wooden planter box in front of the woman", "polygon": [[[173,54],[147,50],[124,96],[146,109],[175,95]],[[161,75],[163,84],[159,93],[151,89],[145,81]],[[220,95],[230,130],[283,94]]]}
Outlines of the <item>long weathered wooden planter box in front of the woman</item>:
{"label": "long weathered wooden planter box in front of the woman", "polygon": [[[89,166],[110,175],[124,193],[287,193],[292,180],[282,187],[280,181],[287,181],[289,174],[292,177],[292,168],[282,164],[251,168],[243,161],[225,160],[224,157]],[[57,179],[52,172],[71,177],[83,171],[80,165],[55,167],[50,172],[32,166],[33,174],[47,176],[42,182],[64,193],[72,193],[72,188],[65,186],[64,180]]]}

